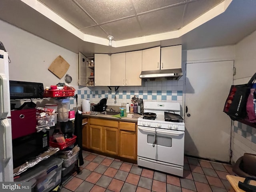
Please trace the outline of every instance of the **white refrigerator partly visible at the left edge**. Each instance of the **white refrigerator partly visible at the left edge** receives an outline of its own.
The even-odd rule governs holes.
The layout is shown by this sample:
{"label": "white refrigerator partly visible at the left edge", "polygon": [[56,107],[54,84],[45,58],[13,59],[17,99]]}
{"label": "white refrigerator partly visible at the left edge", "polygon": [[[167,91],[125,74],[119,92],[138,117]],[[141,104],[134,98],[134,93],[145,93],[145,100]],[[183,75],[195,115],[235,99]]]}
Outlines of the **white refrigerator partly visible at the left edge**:
{"label": "white refrigerator partly visible at the left edge", "polygon": [[8,53],[0,50],[0,182],[13,181]]}

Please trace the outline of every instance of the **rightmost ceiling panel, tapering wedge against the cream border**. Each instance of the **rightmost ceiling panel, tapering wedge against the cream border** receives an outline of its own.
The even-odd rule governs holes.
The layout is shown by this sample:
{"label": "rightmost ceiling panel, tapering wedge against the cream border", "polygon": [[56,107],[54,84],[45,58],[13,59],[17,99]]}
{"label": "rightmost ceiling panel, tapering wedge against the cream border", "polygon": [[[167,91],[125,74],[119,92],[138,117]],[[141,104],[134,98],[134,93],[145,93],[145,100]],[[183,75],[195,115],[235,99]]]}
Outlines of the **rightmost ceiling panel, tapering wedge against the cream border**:
{"label": "rightmost ceiling panel, tapering wedge against the cream border", "polygon": [[183,26],[189,24],[222,1],[224,0],[197,0],[194,2],[189,2],[184,16]]}

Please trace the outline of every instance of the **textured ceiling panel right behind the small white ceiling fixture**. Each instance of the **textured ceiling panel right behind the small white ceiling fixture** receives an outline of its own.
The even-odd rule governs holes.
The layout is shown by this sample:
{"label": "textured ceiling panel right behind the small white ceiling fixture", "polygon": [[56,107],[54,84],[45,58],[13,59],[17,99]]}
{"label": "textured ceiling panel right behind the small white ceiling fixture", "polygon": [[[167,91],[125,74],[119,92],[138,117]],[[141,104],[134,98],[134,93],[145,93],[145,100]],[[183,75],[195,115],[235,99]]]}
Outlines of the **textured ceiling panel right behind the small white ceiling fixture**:
{"label": "textured ceiling panel right behind the small white ceiling fixture", "polygon": [[114,40],[122,40],[142,36],[142,30],[135,17],[102,25]]}

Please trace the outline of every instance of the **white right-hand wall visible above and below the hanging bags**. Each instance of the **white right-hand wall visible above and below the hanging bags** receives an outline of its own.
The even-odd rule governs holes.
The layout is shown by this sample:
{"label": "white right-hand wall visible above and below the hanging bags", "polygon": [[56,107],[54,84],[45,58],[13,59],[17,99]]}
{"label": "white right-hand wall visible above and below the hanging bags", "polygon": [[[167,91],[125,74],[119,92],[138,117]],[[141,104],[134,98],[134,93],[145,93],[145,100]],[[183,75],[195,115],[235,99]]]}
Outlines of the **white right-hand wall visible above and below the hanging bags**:
{"label": "white right-hand wall visible above and below the hanging bags", "polygon": [[[245,84],[256,72],[256,31],[238,42],[235,46],[236,75],[234,84]],[[232,123],[232,151],[231,162],[244,153],[256,154],[256,128],[234,121]]]}

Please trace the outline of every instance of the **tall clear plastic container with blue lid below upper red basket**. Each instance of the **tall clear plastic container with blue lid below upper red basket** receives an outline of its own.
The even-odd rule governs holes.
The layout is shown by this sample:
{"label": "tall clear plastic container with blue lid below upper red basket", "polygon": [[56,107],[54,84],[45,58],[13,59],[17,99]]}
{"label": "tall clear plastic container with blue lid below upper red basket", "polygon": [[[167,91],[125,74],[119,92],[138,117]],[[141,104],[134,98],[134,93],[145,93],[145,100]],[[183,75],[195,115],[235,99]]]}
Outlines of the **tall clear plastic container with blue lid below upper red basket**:
{"label": "tall clear plastic container with blue lid below upper red basket", "polygon": [[69,99],[58,99],[56,100],[56,103],[58,104],[57,121],[67,122],[69,112]]}

